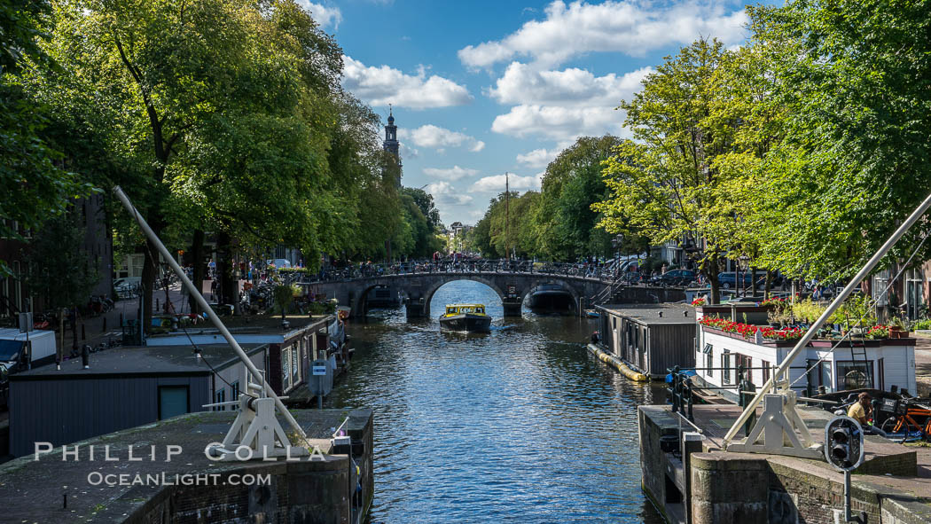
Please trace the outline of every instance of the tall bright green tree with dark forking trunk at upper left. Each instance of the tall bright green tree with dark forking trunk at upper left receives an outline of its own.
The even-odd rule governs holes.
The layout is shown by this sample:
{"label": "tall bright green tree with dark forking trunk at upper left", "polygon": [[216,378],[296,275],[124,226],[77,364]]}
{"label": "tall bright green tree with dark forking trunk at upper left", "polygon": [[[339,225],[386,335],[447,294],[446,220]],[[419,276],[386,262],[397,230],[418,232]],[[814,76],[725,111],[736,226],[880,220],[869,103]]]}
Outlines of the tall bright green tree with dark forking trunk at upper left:
{"label": "tall bright green tree with dark forking trunk at upper left", "polygon": [[[120,182],[156,234],[172,216],[177,156],[202,141],[194,137],[205,122],[236,100],[238,66],[255,39],[244,7],[223,0],[64,0],[54,10],[47,52],[80,87],[71,92],[93,99],[111,119],[109,148],[133,167]],[[149,302],[155,252],[144,249]]]}

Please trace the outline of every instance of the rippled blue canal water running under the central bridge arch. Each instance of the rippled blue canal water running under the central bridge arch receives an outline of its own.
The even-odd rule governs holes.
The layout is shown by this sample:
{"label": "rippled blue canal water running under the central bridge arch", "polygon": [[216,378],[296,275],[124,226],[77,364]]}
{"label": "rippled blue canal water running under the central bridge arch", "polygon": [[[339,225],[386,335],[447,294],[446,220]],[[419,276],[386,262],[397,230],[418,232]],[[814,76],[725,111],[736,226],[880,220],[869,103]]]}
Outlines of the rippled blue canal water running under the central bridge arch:
{"label": "rippled blue canal water running under the central bridge arch", "polygon": [[[485,303],[492,332],[440,332],[452,302]],[[328,399],[374,410],[371,524],[662,522],[641,491],[637,406],[663,393],[588,355],[594,321],[503,318],[469,281],[432,309],[352,322],[353,369]]]}

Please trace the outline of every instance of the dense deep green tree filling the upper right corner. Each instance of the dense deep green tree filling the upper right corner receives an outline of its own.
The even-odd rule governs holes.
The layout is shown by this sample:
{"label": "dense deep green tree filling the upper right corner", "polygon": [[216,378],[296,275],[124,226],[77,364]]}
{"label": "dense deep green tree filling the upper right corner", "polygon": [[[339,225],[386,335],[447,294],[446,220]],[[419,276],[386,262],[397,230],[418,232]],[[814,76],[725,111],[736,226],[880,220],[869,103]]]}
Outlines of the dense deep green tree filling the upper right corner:
{"label": "dense deep green tree filling the upper right corner", "polygon": [[791,51],[772,64],[786,133],[764,164],[784,220],[767,257],[789,275],[852,275],[931,192],[931,6],[816,0],[749,14],[754,47]]}

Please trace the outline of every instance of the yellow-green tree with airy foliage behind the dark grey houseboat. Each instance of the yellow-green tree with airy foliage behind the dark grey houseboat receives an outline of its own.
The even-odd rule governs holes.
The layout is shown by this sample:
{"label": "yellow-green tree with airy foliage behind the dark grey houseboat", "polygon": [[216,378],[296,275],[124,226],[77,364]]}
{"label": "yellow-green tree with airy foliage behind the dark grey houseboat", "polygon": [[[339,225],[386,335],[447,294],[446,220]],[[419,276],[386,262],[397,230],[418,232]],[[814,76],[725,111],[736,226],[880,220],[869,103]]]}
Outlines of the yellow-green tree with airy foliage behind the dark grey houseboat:
{"label": "yellow-green tree with airy foliage behind the dark grey houseboat", "polygon": [[621,103],[636,141],[623,142],[607,160],[611,196],[594,206],[610,233],[632,229],[653,245],[673,241],[692,248],[712,301],[735,222],[721,191],[728,180],[714,165],[734,141],[734,126],[712,118],[714,75],[724,54],[717,40],[683,47],[643,80],[633,101]]}

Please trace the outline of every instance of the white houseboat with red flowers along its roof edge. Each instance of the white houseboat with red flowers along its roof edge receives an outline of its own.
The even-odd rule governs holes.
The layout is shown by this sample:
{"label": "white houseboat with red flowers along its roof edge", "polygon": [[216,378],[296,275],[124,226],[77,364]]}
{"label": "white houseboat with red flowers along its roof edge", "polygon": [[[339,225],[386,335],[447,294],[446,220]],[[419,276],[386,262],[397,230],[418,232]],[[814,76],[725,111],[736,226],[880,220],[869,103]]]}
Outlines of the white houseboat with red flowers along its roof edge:
{"label": "white houseboat with red flowers along its roof edge", "polygon": [[[803,329],[763,325],[759,321],[765,316],[763,309],[755,303],[695,308],[696,383],[723,387],[719,395],[736,402],[741,378],[756,387],[769,380],[772,369],[789,355]],[[738,377],[738,369],[743,371],[742,377]],[[889,390],[894,385],[914,393],[915,339],[855,336],[840,343],[814,340],[791,363],[788,378],[794,390],[807,396],[860,388]]]}

